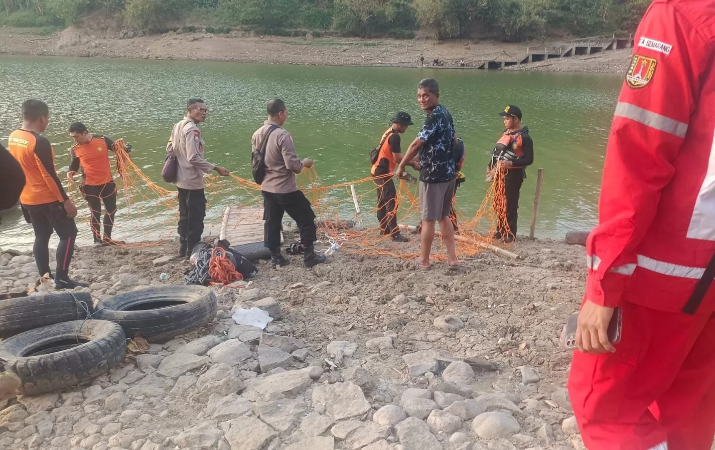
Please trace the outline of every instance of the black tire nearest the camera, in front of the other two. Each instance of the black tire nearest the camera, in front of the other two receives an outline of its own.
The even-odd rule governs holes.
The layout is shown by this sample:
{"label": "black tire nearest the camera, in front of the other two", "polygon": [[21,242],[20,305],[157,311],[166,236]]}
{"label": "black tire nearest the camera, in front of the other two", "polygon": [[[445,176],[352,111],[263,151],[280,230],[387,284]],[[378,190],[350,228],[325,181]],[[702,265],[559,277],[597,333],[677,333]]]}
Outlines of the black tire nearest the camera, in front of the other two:
{"label": "black tire nearest the camera, in front of the other two", "polygon": [[[39,346],[65,339],[87,340],[71,349],[24,356]],[[106,374],[127,354],[127,336],[122,327],[103,320],[75,320],[43,326],[5,339],[0,359],[5,369],[22,381],[21,394],[34,395],[77,386]]]}

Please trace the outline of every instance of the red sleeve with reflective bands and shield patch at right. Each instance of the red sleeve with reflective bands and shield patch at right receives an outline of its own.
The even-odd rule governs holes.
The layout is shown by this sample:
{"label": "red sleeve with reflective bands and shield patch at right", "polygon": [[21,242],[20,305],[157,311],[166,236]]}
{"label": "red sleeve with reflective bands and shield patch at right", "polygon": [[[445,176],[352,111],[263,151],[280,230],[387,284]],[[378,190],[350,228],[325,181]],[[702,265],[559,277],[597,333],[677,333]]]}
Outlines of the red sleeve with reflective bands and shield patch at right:
{"label": "red sleeve with reflective bands and shield patch at right", "polygon": [[651,4],[636,32],[608,137],[598,226],[586,241],[586,300],[621,302],[636,269],[636,247],[674,175],[711,53],[674,6]]}

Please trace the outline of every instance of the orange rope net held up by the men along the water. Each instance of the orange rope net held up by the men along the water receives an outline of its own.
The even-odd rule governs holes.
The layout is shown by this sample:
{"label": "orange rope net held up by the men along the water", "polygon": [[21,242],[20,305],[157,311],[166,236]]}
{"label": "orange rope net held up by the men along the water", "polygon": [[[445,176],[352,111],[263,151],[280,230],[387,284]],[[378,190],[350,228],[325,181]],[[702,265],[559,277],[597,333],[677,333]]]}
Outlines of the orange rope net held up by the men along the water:
{"label": "orange rope net held up by the men along the water", "polygon": [[[152,242],[174,238],[178,219],[176,191],[164,188],[144,174],[127,154],[123,139],[114,143],[117,158],[117,212],[114,218],[114,239],[125,239],[126,246],[149,246]],[[503,177],[506,170],[494,171],[493,181],[474,216],[466,216],[456,200],[453,204],[453,219],[459,226],[457,236],[458,256],[470,257],[484,250],[484,244],[493,243],[490,236],[500,228],[506,228],[506,196]],[[391,175],[378,177],[390,178]],[[209,200],[207,211],[214,211],[206,219],[205,235],[218,235],[221,217],[211,209],[212,204],[232,207],[262,207],[260,186],[253,181],[231,174],[227,177],[208,176],[205,186]],[[298,176],[300,189],[310,200],[319,225],[318,239],[353,254],[393,256],[398,259],[413,259],[417,256],[415,246],[393,242],[383,236],[378,226],[377,191],[375,179],[367,177],[339,184],[323,184],[315,169],[307,169]],[[418,184],[404,179],[395,179],[400,226],[418,224],[420,206]],[[84,203],[77,191],[71,190],[74,201]],[[109,211],[114,212],[114,211]],[[87,217],[88,214],[82,214]],[[285,217],[288,221],[290,218]],[[234,226],[237,226],[234,224]],[[414,227],[412,227],[414,228]],[[477,231],[478,230],[478,231]],[[116,236],[121,236],[117,238]],[[419,239],[416,237],[415,239]],[[439,238],[435,243],[439,251],[433,251],[436,260],[445,258],[445,249]]]}

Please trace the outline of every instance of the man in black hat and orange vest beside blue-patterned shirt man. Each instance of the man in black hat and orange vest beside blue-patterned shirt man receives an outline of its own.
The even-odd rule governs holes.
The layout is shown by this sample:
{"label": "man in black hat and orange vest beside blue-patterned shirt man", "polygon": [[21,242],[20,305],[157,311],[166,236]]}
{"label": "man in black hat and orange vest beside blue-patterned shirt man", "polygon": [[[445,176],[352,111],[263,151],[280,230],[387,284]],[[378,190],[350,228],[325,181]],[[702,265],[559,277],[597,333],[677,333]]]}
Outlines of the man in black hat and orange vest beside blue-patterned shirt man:
{"label": "man in black hat and orange vest beside blue-patterned shirt man", "polygon": [[[400,134],[407,131],[408,126],[413,125],[410,114],[405,111],[398,111],[390,121],[390,128],[383,133],[378,146],[378,155],[373,163],[370,174],[375,176],[375,184],[378,185],[378,221],[380,221],[380,231],[385,236],[391,236],[395,242],[407,242],[405,236],[400,234],[398,228],[398,191],[395,189],[393,172],[395,166],[403,159],[400,150]],[[419,169],[415,161],[413,167]]]}

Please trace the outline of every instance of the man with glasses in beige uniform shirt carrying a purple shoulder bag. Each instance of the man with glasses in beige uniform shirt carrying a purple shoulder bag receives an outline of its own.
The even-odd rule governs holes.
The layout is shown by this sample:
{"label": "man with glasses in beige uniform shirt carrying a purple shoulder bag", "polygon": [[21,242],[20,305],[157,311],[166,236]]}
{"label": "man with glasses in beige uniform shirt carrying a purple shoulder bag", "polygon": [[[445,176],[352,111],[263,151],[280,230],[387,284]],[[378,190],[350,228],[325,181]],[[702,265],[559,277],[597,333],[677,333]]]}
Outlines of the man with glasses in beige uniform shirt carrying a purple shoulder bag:
{"label": "man with glasses in beige uniform shirt carrying a purple shoulder bag", "polygon": [[179,191],[179,257],[188,258],[201,241],[206,216],[204,175],[217,171],[221,176],[230,172],[204,159],[204,139],[199,124],[206,121],[209,110],[202,99],[189,99],[186,116],[174,125],[167,144],[167,154],[177,158],[177,189]]}

